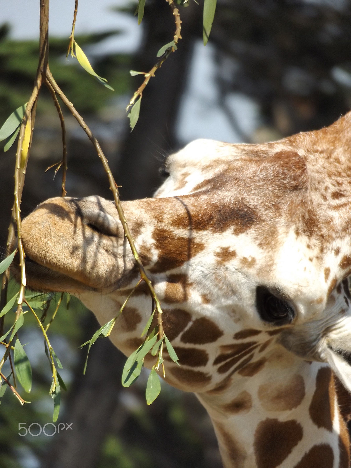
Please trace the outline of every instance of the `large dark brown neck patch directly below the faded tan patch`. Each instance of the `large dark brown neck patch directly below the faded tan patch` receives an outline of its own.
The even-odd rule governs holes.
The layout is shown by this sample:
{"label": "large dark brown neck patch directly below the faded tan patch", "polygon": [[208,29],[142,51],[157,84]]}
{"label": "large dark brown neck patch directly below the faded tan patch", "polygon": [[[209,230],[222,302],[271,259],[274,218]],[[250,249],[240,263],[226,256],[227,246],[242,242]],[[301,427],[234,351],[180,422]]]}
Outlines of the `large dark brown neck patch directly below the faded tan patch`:
{"label": "large dark brown neck patch directly below the faded tan patch", "polygon": [[267,418],[261,421],[254,440],[257,468],[278,467],[297,446],[302,435],[302,426],[294,419],[280,422]]}

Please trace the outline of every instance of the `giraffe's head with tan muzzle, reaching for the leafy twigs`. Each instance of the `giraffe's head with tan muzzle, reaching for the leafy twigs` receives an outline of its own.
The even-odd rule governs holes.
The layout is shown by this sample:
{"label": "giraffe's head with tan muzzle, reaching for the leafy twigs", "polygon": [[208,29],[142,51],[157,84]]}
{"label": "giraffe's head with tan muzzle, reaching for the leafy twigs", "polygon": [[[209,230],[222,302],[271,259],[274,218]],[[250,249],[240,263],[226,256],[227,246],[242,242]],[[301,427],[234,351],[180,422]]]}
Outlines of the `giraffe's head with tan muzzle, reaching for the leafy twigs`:
{"label": "giraffe's head with tan muzzle, reaching for the leafy twigs", "polygon": [[[220,373],[229,358],[219,355],[237,354],[238,338],[256,336],[249,343],[258,346],[274,336],[302,359],[328,362],[351,390],[343,357],[351,351],[350,124],[348,114],[261,145],[196,140],[168,157],[153,199],[123,203],[166,334],[181,362],[192,360],[191,346],[194,367],[208,371],[189,370],[187,380],[176,369],[173,384],[208,388],[218,378],[206,366]],[[47,200],[24,219],[22,238],[29,287],[73,292],[101,322],[136,282],[113,202]],[[126,354],[149,302],[139,289],[115,327],[112,340]]]}

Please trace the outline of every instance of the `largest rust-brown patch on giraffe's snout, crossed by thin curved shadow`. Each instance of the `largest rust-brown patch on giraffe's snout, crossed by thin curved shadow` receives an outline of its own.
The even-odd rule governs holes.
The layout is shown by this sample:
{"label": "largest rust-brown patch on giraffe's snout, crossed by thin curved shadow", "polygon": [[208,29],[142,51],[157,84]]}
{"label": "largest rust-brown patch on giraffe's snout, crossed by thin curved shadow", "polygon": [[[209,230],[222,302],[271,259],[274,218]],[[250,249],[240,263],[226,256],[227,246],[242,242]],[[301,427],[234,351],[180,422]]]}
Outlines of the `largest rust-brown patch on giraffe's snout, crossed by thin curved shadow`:
{"label": "largest rust-brown patch on giraffe's snout, crossed by thin curved shadow", "polygon": [[150,268],[152,273],[178,268],[205,249],[202,242],[195,242],[190,237],[177,236],[170,229],[156,227],[152,235],[158,250],[158,260]]}

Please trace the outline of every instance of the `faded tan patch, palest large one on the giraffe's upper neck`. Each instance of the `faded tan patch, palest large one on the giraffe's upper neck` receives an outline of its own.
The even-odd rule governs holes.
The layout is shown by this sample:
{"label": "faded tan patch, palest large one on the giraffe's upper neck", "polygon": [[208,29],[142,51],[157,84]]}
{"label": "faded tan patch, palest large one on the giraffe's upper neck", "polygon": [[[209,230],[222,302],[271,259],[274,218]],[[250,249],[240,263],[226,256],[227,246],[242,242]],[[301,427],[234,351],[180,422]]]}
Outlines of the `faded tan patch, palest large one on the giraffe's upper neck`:
{"label": "faded tan patch, palest large one on the giraffe's upper neck", "polygon": [[260,385],[258,398],[267,411],[286,411],[297,408],[305,397],[305,382],[300,374],[289,380]]}

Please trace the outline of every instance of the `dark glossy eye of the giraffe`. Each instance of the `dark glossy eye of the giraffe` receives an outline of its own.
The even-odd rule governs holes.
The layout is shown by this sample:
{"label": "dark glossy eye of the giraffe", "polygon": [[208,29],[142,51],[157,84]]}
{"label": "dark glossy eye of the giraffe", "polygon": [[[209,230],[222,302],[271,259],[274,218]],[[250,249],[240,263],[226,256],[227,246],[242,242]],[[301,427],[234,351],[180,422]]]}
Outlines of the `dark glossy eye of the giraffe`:
{"label": "dark glossy eye of the giraffe", "polygon": [[256,307],[261,319],[274,325],[291,323],[295,315],[287,300],[272,294],[265,286],[256,288]]}

